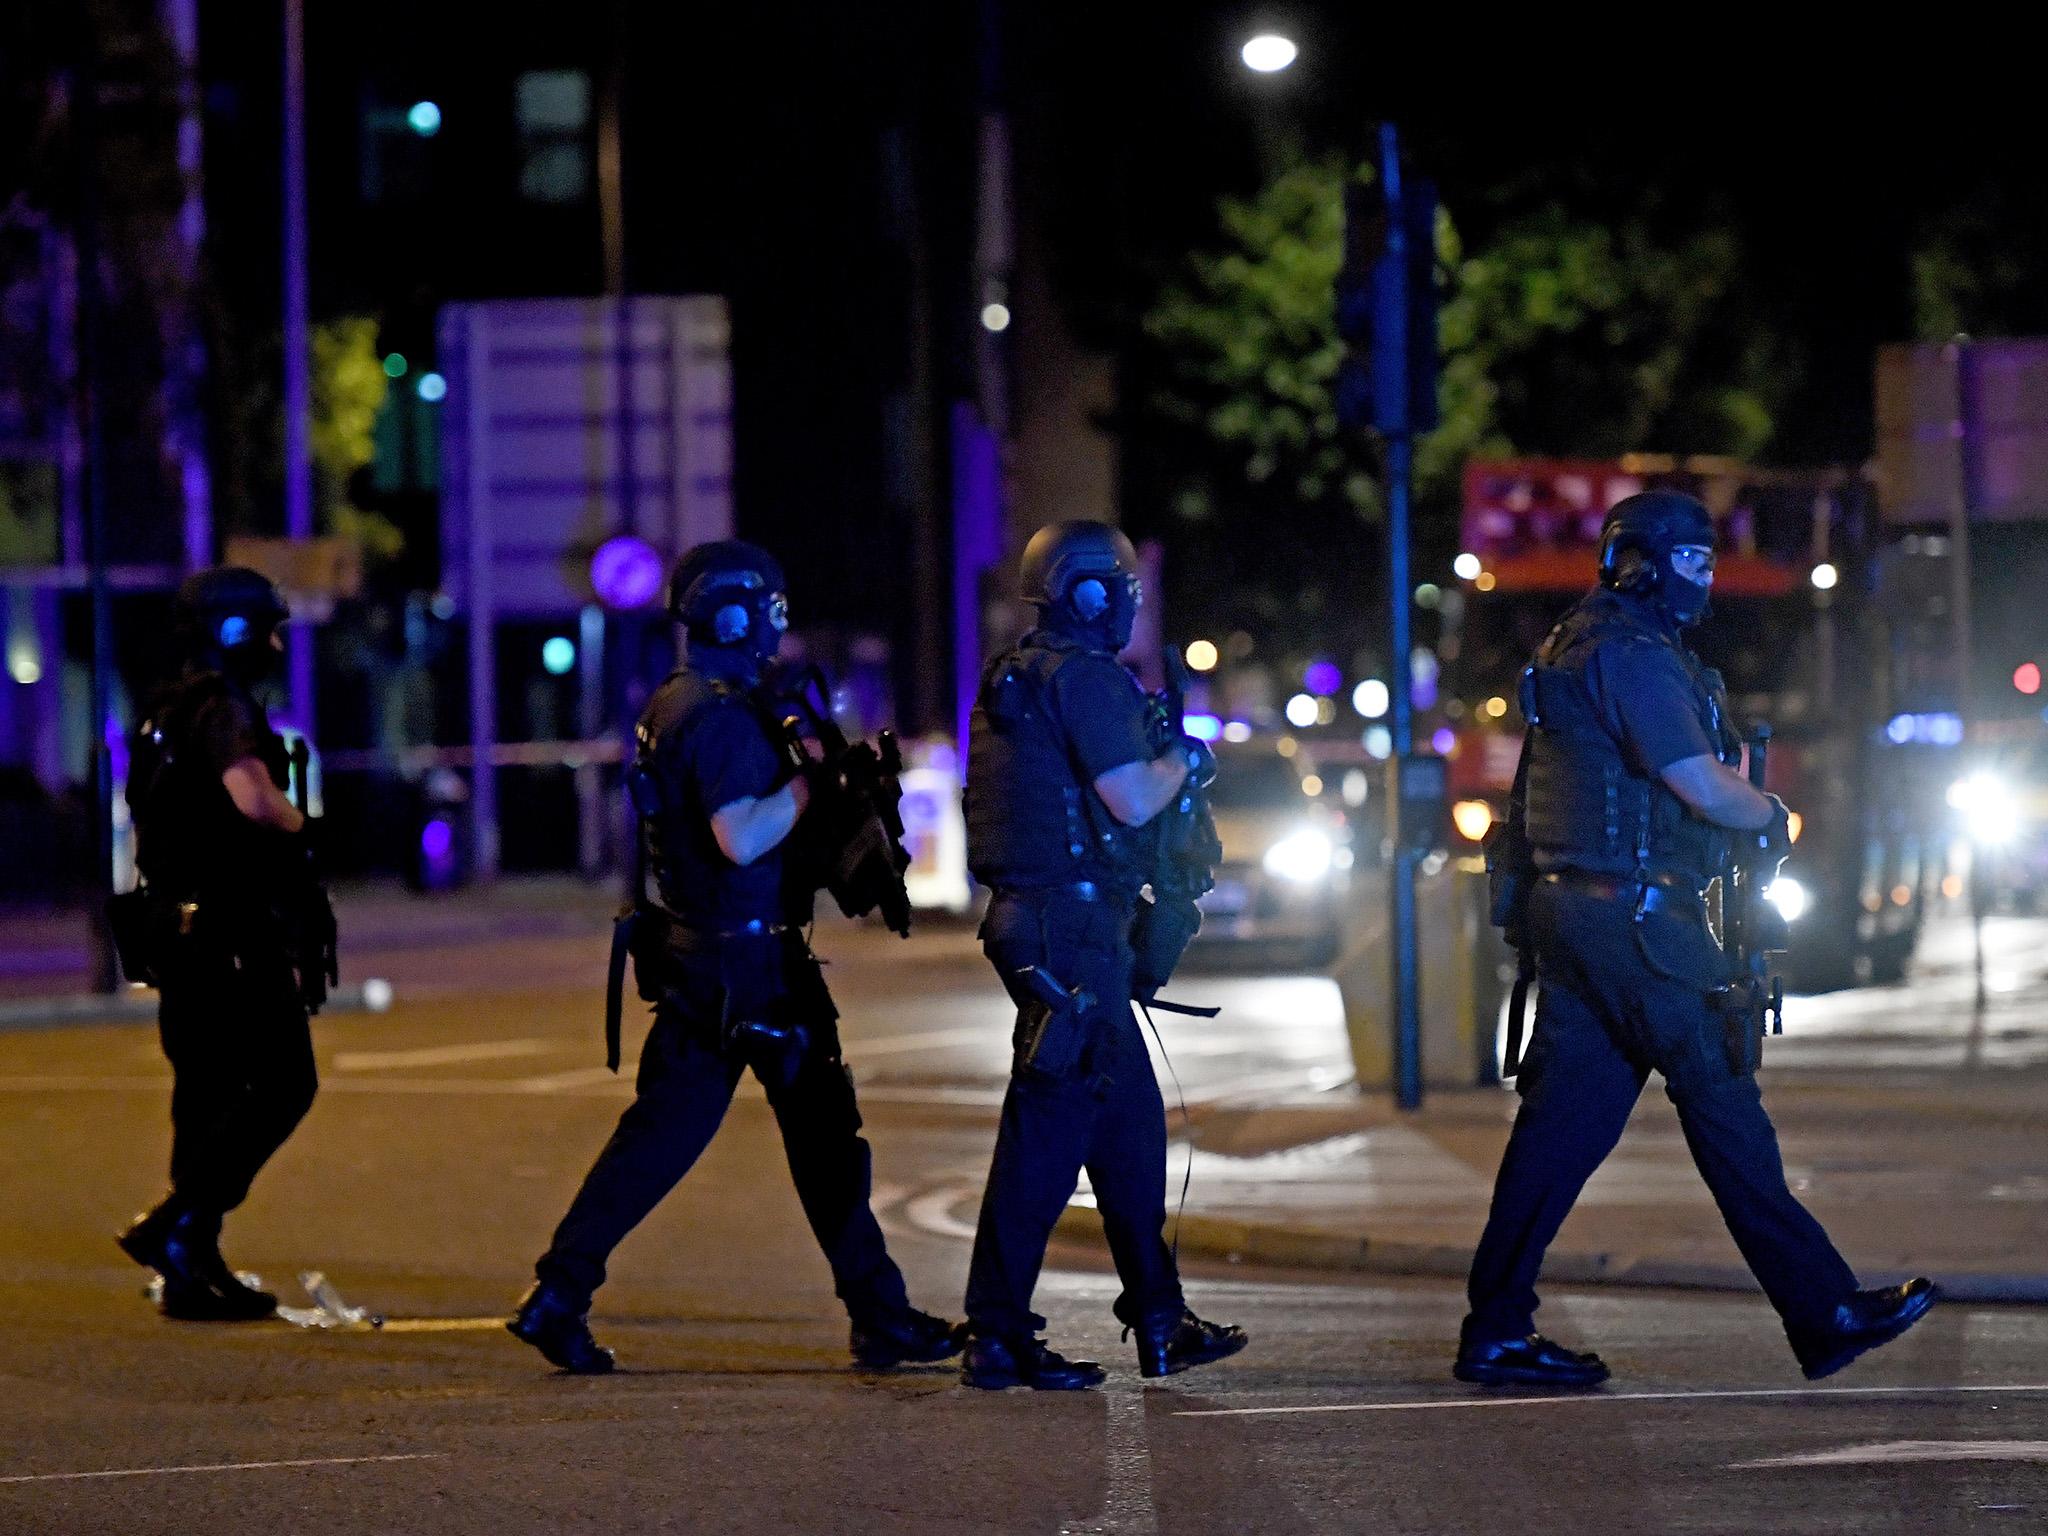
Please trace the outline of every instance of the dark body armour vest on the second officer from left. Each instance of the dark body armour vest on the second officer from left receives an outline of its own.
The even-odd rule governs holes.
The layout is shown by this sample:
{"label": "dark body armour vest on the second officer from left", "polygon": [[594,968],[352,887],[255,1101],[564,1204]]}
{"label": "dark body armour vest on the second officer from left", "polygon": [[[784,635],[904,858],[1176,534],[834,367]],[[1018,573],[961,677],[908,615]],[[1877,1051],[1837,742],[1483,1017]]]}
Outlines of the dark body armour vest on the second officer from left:
{"label": "dark body armour vest on the second officer from left", "polygon": [[700,803],[684,766],[690,731],[715,711],[743,711],[750,725],[764,737],[768,733],[739,684],[692,668],[670,674],[653,690],[635,731],[639,748],[629,786],[662,905],[700,932],[731,932],[750,922],[803,922],[784,891],[784,848],[776,846],[743,866],[729,860],[711,829],[711,813],[721,807]]}

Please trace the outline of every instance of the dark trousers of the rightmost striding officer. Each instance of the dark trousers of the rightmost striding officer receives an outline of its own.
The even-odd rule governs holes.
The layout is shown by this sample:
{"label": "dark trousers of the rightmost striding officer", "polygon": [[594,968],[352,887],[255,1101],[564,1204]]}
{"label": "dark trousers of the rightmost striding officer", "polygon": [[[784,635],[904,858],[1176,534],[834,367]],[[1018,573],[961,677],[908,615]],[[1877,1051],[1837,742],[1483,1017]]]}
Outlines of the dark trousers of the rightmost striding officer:
{"label": "dark trousers of the rightmost striding officer", "polygon": [[1534,1329],[1544,1249],[1614,1151],[1651,1071],[1665,1079],[1692,1161],[1786,1329],[1825,1323],[1855,1274],[1786,1188],[1753,1073],[1726,1047],[1710,987],[1724,961],[1704,911],[1653,911],[1538,883],[1530,938],[1542,1001],[1522,1065],[1493,1210],[1473,1255],[1466,1335]]}

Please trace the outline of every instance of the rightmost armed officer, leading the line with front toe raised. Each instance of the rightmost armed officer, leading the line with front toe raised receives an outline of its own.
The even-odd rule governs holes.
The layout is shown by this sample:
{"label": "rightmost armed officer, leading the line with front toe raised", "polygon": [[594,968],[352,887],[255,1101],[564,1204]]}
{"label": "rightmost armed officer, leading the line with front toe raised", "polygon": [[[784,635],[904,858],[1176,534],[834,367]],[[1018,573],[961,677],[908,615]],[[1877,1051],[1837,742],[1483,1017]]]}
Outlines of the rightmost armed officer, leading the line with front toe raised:
{"label": "rightmost armed officer, leading the line with front toe raised", "polygon": [[1495,918],[1534,950],[1540,1004],[1473,1257],[1460,1380],[1606,1380],[1597,1356],[1536,1333],[1536,1274],[1651,1071],[1806,1376],[1896,1337],[1933,1303],[1927,1280],[1858,1290],[1786,1188],[1755,1079],[1755,1018],[1731,1008],[1741,993],[1704,891],[1731,856],[1767,881],[1790,842],[1788,811],[1737,770],[1720,678],[1683,641],[1712,586],[1708,510],[1675,492],[1630,496],[1606,518],[1599,586],[1524,672],[1530,733],[1505,846],[1489,862],[1518,887]]}

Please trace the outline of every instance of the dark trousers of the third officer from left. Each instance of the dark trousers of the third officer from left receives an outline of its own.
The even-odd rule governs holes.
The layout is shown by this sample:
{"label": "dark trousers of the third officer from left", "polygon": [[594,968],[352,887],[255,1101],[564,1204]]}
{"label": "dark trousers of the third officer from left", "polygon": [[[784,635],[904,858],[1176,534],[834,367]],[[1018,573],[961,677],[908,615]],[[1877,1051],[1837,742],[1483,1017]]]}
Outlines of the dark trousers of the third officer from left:
{"label": "dark trousers of the third officer from left", "polygon": [[1130,1012],[1130,913],[1128,901],[1108,895],[999,891],[981,926],[983,950],[1020,1006],[1014,973],[1028,965],[1096,997],[1071,1071],[1055,1077],[1020,1065],[1010,1075],[967,1270],[967,1321],[983,1337],[1044,1327],[1030,1298],[1083,1167],[1124,1284],[1116,1317],[1180,1317],[1186,1305],[1161,1235],[1165,1104]]}

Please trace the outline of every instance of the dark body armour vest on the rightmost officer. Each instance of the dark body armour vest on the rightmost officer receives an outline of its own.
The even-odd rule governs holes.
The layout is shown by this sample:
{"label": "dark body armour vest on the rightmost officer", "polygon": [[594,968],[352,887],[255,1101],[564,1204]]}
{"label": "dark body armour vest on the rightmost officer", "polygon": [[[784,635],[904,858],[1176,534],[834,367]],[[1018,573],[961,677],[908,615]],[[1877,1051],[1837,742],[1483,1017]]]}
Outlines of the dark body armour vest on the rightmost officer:
{"label": "dark body armour vest on the rightmost officer", "polygon": [[1706,885],[1720,872],[1729,838],[1692,815],[1661,778],[1628,762],[1587,682],[1587,664],[1604,645],[1673,651],[1692,678],[1692,707],[1708,741],[1722,762],[1741,754],[1718,674],[1626,598],[1591,594],[1550,631],[1522,674],[1522,715],[1530,723],[1526,817],[1536,866]]}

